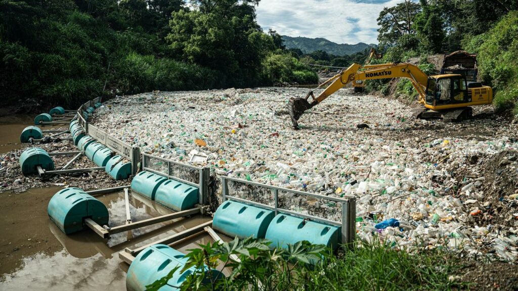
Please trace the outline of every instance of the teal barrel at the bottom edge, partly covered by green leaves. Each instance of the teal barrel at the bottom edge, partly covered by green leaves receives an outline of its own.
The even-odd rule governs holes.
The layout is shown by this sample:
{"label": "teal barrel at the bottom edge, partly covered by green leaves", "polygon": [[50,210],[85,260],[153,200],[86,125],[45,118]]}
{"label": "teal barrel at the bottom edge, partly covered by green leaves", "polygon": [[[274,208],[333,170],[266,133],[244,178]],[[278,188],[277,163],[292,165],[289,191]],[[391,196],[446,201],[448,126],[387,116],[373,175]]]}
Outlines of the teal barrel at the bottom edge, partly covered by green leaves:
{"label": "teal barrel at the bottom edge, partly covered by green leaves", "polygon": [[[179,251],[165,244],[155,244],[149,246],[140,252],[133,260],[126,275],[126,290],[128,291],[145,291],[146,286],[152,284],[156,280],[166,277],[174,268],[178,269],[173,273],[171,279],[167,281],[165,286],[160,288],[161,291],[180,290],[180,285],[185,281],[187,276],[196,271],[195,267],[191,267],[181,272],[188,258]],[[207,269],[205,269],[207,270]],[[213,270],[212,279],[218,280],[223,274],[217,270]],[[209,274],[203,283],[209,283]]]}

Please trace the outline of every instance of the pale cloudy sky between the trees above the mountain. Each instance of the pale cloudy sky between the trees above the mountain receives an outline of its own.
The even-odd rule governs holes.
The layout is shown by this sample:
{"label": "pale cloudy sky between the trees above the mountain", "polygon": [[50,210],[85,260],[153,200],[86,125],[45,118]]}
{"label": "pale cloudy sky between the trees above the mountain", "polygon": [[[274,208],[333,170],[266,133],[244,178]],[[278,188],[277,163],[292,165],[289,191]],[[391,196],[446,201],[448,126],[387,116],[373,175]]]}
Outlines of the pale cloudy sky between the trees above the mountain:
{"label": "pale cloudy sky between the trees above the mountain", "polygon": [[403,0],[261,0],[257,22],[281,35],[323,37],[337,43],[378,43],[383,7]]}

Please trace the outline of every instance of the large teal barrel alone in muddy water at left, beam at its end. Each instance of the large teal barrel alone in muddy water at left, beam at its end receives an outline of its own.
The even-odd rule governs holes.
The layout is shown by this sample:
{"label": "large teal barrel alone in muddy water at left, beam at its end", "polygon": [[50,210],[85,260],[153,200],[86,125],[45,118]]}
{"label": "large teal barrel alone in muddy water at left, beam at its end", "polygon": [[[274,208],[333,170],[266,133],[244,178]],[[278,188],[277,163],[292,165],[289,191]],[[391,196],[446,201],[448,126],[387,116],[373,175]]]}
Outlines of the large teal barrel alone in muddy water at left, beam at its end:
{"label": "large teal barrel alone in muddy water at left, beam at its end", "polygon": [[47,212],[50,219],[65,234],[83,229],[84,219],[90,218],[99,225],[108,224],[108,209],[80,188],[65,188],[50,198]]}

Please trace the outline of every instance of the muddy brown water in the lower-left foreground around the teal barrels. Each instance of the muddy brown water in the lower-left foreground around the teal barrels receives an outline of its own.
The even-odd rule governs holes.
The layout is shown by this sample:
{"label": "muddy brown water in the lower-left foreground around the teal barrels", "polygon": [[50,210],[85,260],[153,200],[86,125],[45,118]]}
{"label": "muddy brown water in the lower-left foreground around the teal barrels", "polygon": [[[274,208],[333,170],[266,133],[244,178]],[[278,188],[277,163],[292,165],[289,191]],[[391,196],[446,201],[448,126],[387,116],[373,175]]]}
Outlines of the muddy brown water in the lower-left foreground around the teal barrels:
{"label": "muddy brown water in the lower-left foreground around the teal barrels", "polygon": [[[122,232],[103,239],[90,229],[64,235],[47,215],[47,205],[60,187],[0,194],[0,289],[125,290],[128,265],[119,259],[124,248],[137,248],[209,221],[196,215]],[[124,193],[96,197],[110,213],[110,226],[125,223]],[[171,213],[136,193],[130,196],[133,221]],[[191,237],[174,248],[187,253],[212,239]]]}

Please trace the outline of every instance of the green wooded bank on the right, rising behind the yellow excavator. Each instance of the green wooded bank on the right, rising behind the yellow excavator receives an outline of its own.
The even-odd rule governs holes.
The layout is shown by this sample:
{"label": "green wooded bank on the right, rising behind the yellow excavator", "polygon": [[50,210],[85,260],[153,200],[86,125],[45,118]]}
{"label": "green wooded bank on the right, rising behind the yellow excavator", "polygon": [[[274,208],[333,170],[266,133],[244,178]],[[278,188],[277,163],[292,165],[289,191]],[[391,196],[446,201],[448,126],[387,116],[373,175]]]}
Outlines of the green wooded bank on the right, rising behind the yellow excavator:
{"label": "green wooded bank on the right, rising behind the yellow excavator", "polygon": [[[518,114],[518,2],[510,0],[406,0],[386,7],[378,17],[378,40],[383,59],[406,62],[420,57],[427,74],[434,65],[427,57],[456,50],[476,53],[479,79],[493,86],[500,112]],[[370,90],[389,93],[389,80],[370,81]],[[414,98],[410,81],[400,80],[397,96]]]}

